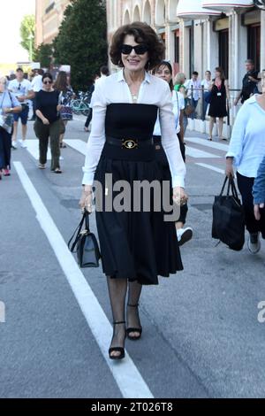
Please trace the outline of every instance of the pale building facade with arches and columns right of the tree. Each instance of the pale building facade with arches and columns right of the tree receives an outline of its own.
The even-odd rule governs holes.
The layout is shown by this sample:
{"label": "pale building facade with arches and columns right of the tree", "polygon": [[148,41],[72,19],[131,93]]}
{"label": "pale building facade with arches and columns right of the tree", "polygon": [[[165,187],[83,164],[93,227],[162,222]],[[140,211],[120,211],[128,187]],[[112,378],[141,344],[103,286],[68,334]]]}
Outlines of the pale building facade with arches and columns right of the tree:
{"label": "pale building facade with arches and columns right of the tree", "polygon": [[239,89],[246,58],[265,68],[264,0],[107,0],[107,8],[109,41],[117,27],[145,21],[161,35],[175,73],[203,77],[221,65]]}

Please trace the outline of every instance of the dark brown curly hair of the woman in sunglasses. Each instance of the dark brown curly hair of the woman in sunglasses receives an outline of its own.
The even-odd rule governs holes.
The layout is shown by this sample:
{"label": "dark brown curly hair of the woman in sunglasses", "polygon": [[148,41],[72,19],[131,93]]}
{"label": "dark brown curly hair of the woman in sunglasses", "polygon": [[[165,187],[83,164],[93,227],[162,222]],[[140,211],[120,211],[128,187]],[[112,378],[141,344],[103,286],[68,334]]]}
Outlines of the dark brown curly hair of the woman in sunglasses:
{"label": "dark brown curly hair of the woman in sunglasses", "polygon": [[130,25],[119,27],[113,35],[110,46],[110,59],[112,64],[124,67],[121,59],[121,47],[126,35],[133,35],[137,43],[145,43],[148,46],[148,64],[146,69],[152,70],[160,64],[163,59],[164,45],[156,35],[155,30],[147,23],[140,21],[133,22]]}

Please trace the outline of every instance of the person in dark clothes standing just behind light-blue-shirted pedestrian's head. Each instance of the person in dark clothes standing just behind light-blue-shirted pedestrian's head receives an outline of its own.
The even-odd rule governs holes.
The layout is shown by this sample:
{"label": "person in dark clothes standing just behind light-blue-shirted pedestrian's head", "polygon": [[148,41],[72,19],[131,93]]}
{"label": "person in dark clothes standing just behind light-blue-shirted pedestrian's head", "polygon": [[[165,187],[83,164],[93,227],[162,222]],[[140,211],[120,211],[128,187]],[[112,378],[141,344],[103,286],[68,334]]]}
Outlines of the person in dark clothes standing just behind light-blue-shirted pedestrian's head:
{"label": "person in dark clothes standing just behind light-blue-shirted pedestrian's head", "polygon": [[256,89],[259,83],[258,74],[259,71],[255,69],[254,61],[252,59],[246,59],[246,74],[242,80],[242,89],[234,101],[235,105],[239,104],[239,100],[244,104],[250,96],[257,92]]}

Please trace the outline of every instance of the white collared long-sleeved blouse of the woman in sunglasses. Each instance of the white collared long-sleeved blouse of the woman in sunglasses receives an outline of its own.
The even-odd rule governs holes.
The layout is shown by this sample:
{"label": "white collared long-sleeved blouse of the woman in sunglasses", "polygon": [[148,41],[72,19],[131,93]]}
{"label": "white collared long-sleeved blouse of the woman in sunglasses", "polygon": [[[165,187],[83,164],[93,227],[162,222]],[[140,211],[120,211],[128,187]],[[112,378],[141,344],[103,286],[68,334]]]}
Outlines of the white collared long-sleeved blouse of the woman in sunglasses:
{"label": "white collared long-sleeved blouse of the woman in sunglasses", "polygon": [[[95,85],[92,98],[92,129],[87,142],[87,157],[83,167],[83,185],[92,185],[96,167],[106,141],[105,116],[109,104],[133,104],[130,89],[125,81],[123,70],[114,73]],[[163,150],[165,151],[172,176],[173,187],[185,187],[186,166],[176,140],[175,119],[172,112],[172,97],[169,84],[158,77],[146,73],[140,86],[138,104],[153,104],[159,108]]]}

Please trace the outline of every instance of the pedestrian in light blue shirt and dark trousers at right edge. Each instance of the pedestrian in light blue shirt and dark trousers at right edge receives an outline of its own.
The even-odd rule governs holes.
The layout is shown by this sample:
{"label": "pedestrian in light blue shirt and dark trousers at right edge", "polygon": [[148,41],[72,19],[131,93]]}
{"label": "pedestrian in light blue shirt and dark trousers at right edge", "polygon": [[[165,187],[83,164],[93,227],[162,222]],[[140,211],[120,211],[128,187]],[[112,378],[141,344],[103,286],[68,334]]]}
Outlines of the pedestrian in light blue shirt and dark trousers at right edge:
{"label": "pedestrian in light blue shirt and dark trousers at right edge", "polygon": [[[265,71],[261,73],[262,94],[255,94],[240,108],[226,155],[226,174],[233,176],[237,168],[237,180],[246,214],[249,232],[248,250],[256,254],[261,250],[260,232],[265,237],[264,221],[254,217],[254,180],[265,157]],[[259,183],[259,181],[258,181]]]}

